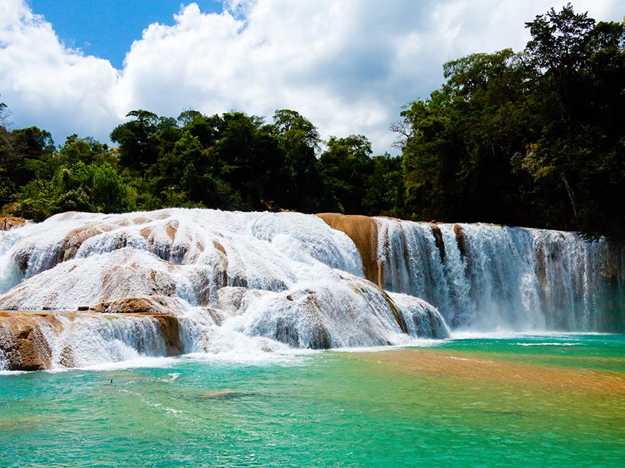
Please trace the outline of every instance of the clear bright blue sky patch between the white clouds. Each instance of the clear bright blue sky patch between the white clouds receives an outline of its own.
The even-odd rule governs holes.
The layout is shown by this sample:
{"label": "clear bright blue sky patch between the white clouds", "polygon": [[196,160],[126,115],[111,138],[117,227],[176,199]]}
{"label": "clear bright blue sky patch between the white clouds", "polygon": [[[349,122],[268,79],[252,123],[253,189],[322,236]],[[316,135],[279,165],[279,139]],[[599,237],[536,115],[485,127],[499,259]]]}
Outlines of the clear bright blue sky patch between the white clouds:
{"label": "clear bright blue sky patch between the white clouds", "polygon": [[[49,21],[66,46],[108,59],[122,69],[124,57],[144,28],[174,24],[181,0],[28,0],[34,13]],[[190,2],[187,2],[190,3]],[[195,0],[202,12],[222,12],[221,1]]]}

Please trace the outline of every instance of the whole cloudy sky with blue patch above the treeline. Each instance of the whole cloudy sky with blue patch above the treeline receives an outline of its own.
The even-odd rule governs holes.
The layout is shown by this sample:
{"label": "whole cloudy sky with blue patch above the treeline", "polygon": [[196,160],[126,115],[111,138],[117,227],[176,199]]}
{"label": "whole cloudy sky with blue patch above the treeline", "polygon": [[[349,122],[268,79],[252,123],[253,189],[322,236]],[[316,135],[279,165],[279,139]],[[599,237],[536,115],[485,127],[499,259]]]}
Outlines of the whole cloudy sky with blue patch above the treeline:
{"label": "whole cloudy sky with blue patch above the treeline", "polygon": [[[403,105],[442,64],[524,49],[554,0],[0,0],[0,101],[12,128],[108,142],[131,110],[178,116],[297,110],[322,138],[392,148]],[[622,0],[575,0],[623,21]]]}

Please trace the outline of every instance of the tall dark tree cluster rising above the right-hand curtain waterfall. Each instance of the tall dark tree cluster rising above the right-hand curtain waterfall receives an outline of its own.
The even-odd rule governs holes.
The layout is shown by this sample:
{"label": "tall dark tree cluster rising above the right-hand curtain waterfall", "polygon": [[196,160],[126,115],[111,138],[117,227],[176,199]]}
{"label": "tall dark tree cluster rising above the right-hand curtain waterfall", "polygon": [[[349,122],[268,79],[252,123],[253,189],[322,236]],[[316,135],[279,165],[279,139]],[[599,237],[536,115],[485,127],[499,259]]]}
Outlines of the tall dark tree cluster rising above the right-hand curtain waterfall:
{"label": "tall dark tree cluster rising above the right-hand curtain waterfall", "polygon": [[452,60],[402,112],[406,209],[622,238],[625,26],[570,4],[526,26],[525,51]]}

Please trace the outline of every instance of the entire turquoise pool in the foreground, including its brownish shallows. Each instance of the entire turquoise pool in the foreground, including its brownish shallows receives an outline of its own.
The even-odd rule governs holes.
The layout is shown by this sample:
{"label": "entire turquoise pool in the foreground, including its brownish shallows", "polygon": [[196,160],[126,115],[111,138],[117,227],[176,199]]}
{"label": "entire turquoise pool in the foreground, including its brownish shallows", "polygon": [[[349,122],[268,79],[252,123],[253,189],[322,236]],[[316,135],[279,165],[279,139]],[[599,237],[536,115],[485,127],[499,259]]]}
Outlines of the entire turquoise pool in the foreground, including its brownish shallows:
{"label": "entire turquoise pool in the foreground, including its brownish shallows", "polygon": [[151,365],[1,375],[0,467],[625,466],[625,336]]}

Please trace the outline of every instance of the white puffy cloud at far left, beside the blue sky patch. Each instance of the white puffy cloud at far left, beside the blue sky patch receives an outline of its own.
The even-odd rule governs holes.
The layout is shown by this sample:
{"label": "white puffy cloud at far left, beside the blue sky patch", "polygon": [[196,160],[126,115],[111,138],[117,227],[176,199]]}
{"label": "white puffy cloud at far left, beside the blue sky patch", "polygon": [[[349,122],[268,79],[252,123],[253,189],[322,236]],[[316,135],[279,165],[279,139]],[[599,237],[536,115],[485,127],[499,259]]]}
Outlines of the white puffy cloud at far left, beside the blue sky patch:
{"label": "white puffy cloud at far left, beside the blue sky patch", "polygon": [[119,120],[108,98],[117,78],[108,60],[60,44],[21,0],[0,3],[0,94],[16,125],[101,132]]}

